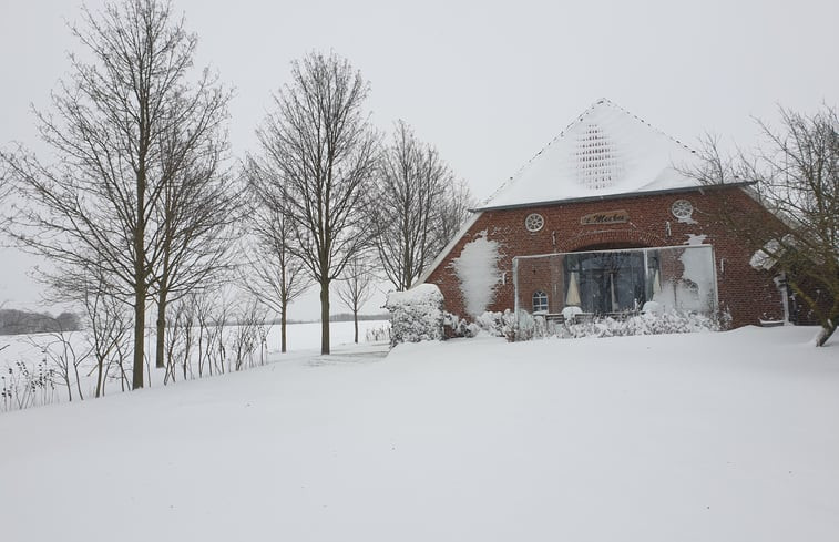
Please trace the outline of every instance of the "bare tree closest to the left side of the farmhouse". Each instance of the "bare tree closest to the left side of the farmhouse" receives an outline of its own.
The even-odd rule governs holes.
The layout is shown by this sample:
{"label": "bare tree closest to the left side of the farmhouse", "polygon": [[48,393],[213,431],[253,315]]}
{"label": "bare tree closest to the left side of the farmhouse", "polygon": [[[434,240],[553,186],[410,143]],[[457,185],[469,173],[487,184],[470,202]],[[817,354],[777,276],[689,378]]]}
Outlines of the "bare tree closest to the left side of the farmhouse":
{"label": "bare tree closest to the left side of the farmhouse", "polygon": [[376,205],[370,206],[374,243],[385,276],[406,290],[460,228],[469,188],[403,121],[396,123],[376,183]]}

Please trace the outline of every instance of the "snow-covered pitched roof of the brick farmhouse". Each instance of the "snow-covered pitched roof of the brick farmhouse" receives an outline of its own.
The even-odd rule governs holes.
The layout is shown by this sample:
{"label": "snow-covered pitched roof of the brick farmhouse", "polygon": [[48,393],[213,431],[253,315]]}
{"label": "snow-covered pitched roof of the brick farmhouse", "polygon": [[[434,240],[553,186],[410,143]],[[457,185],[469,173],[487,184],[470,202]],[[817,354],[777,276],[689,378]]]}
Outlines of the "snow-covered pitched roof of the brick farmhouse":
{"label": "snow-covered pitched roof of the brick farmhouse", "polygon": [[480,208],[690,188],[700,182],[674,166],[696,164],[679,141],[601,99]]}

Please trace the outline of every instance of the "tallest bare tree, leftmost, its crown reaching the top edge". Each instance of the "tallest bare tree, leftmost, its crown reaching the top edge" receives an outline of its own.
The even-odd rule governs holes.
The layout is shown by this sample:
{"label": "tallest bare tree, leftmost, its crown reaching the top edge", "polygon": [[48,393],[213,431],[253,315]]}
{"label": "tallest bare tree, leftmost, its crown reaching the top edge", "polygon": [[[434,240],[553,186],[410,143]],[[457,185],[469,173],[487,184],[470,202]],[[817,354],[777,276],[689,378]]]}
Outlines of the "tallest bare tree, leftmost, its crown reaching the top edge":
{"label": "tallest bare tree, leftmost, its crown reaching the top edge", "polygon": [[[53,278],[104,266],[109,287],[133,306],[132,387],[141,388],[146,300],[166,234],[156,214],[166,176],[183,171],[170,167],[177,162],[170,154],[205,147],[224,99],[206,70],[188,84],[197,38],[168,2],[85,9],[84,22],[72,31],[88,54],[71,55],[71,75],[53,92],[54,114],[37,113],[57,163],[42,165],[23,150],[3,156],[32,203],[13,235],[58,265]],[[183,136],[174,151],[173,134]]]}

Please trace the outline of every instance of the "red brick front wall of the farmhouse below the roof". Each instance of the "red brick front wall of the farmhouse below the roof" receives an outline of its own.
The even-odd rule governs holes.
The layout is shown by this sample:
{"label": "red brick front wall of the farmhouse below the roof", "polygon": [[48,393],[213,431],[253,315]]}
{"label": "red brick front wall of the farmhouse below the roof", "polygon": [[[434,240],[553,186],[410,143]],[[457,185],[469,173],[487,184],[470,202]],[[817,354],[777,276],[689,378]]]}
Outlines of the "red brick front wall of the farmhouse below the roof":
{"label": "red brick front wall of the farmhouse below the roof", "polygon": [[[759,205],[740,188],[705,192],[697,190],[679,194],[485,211],[457,242],[441,264],[431,272],[427,282],[440,287],[446,298],[447,310],[468,317],[463,308],[460,283],[451,263],[460,255],[467,243],[483,232],[489,239],[498,241],[501,245],[498,267],[499,275],[503,277],[494,288],[494,300],[487,307],[488,310],[504,310],[514,307],[512,279],[514,256],[575,252],[594,245],[627,248],[678,246],[687,242],[688,234],[706,235],[705,244],[714,247],[719,306],[731,314],[734,326],[758,324],[761,318],[779,319],[782,317],[781,299],[771,280],[773,274],[751,268],[749,259],[753,250],[744,246],[734,234],[714,219],[715,212],[720,205],[720,196],[726,197],[728,203],[736,202],[744,209],[761,213],[770,219],[770,215],[760,209]],[[693,219],[696,224],[679,223],[671,214],[671,205],[676,200],[687,200],[693,204]],[[627,213],[627,222],[598,225],[580,223],[580,218],[584,215],[618,209]],[[524,227],[524,218],[530,213],[540,213],[544,216],[545,225],[541,231],[531,233]],[[748,214],[744,213],[744,216]],[[669,223],[669,232],[667,223]],[[534,276],[538,278],[534,279]],[[526,288],[546,292],[551,310],[554,310],[556,296],[552,295],[553,284],[550,276],[549,272],[531,274]],[[523,278],[520,274],[520,285],[524,289]],[[561,280],[561,278],[554,280]],[[523,298],[529,299],[532,292],[525,292],[525,294]],[[557,303],[561,304],[561,301]]]}

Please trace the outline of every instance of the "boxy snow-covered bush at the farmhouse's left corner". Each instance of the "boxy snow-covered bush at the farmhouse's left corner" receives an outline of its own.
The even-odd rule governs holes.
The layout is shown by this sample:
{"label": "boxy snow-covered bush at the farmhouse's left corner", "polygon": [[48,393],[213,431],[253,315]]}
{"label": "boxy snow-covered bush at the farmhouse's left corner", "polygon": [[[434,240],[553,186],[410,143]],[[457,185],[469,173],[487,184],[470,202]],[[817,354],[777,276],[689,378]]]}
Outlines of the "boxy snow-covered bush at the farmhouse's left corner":
{"label": "boxy snow-covered bush at the farmhouse's left corner", "polygon": [[420,340],[442,340],[443,295],[433,284],[408,292],[391,292],[385,308],[390,311],[390,346]]}

